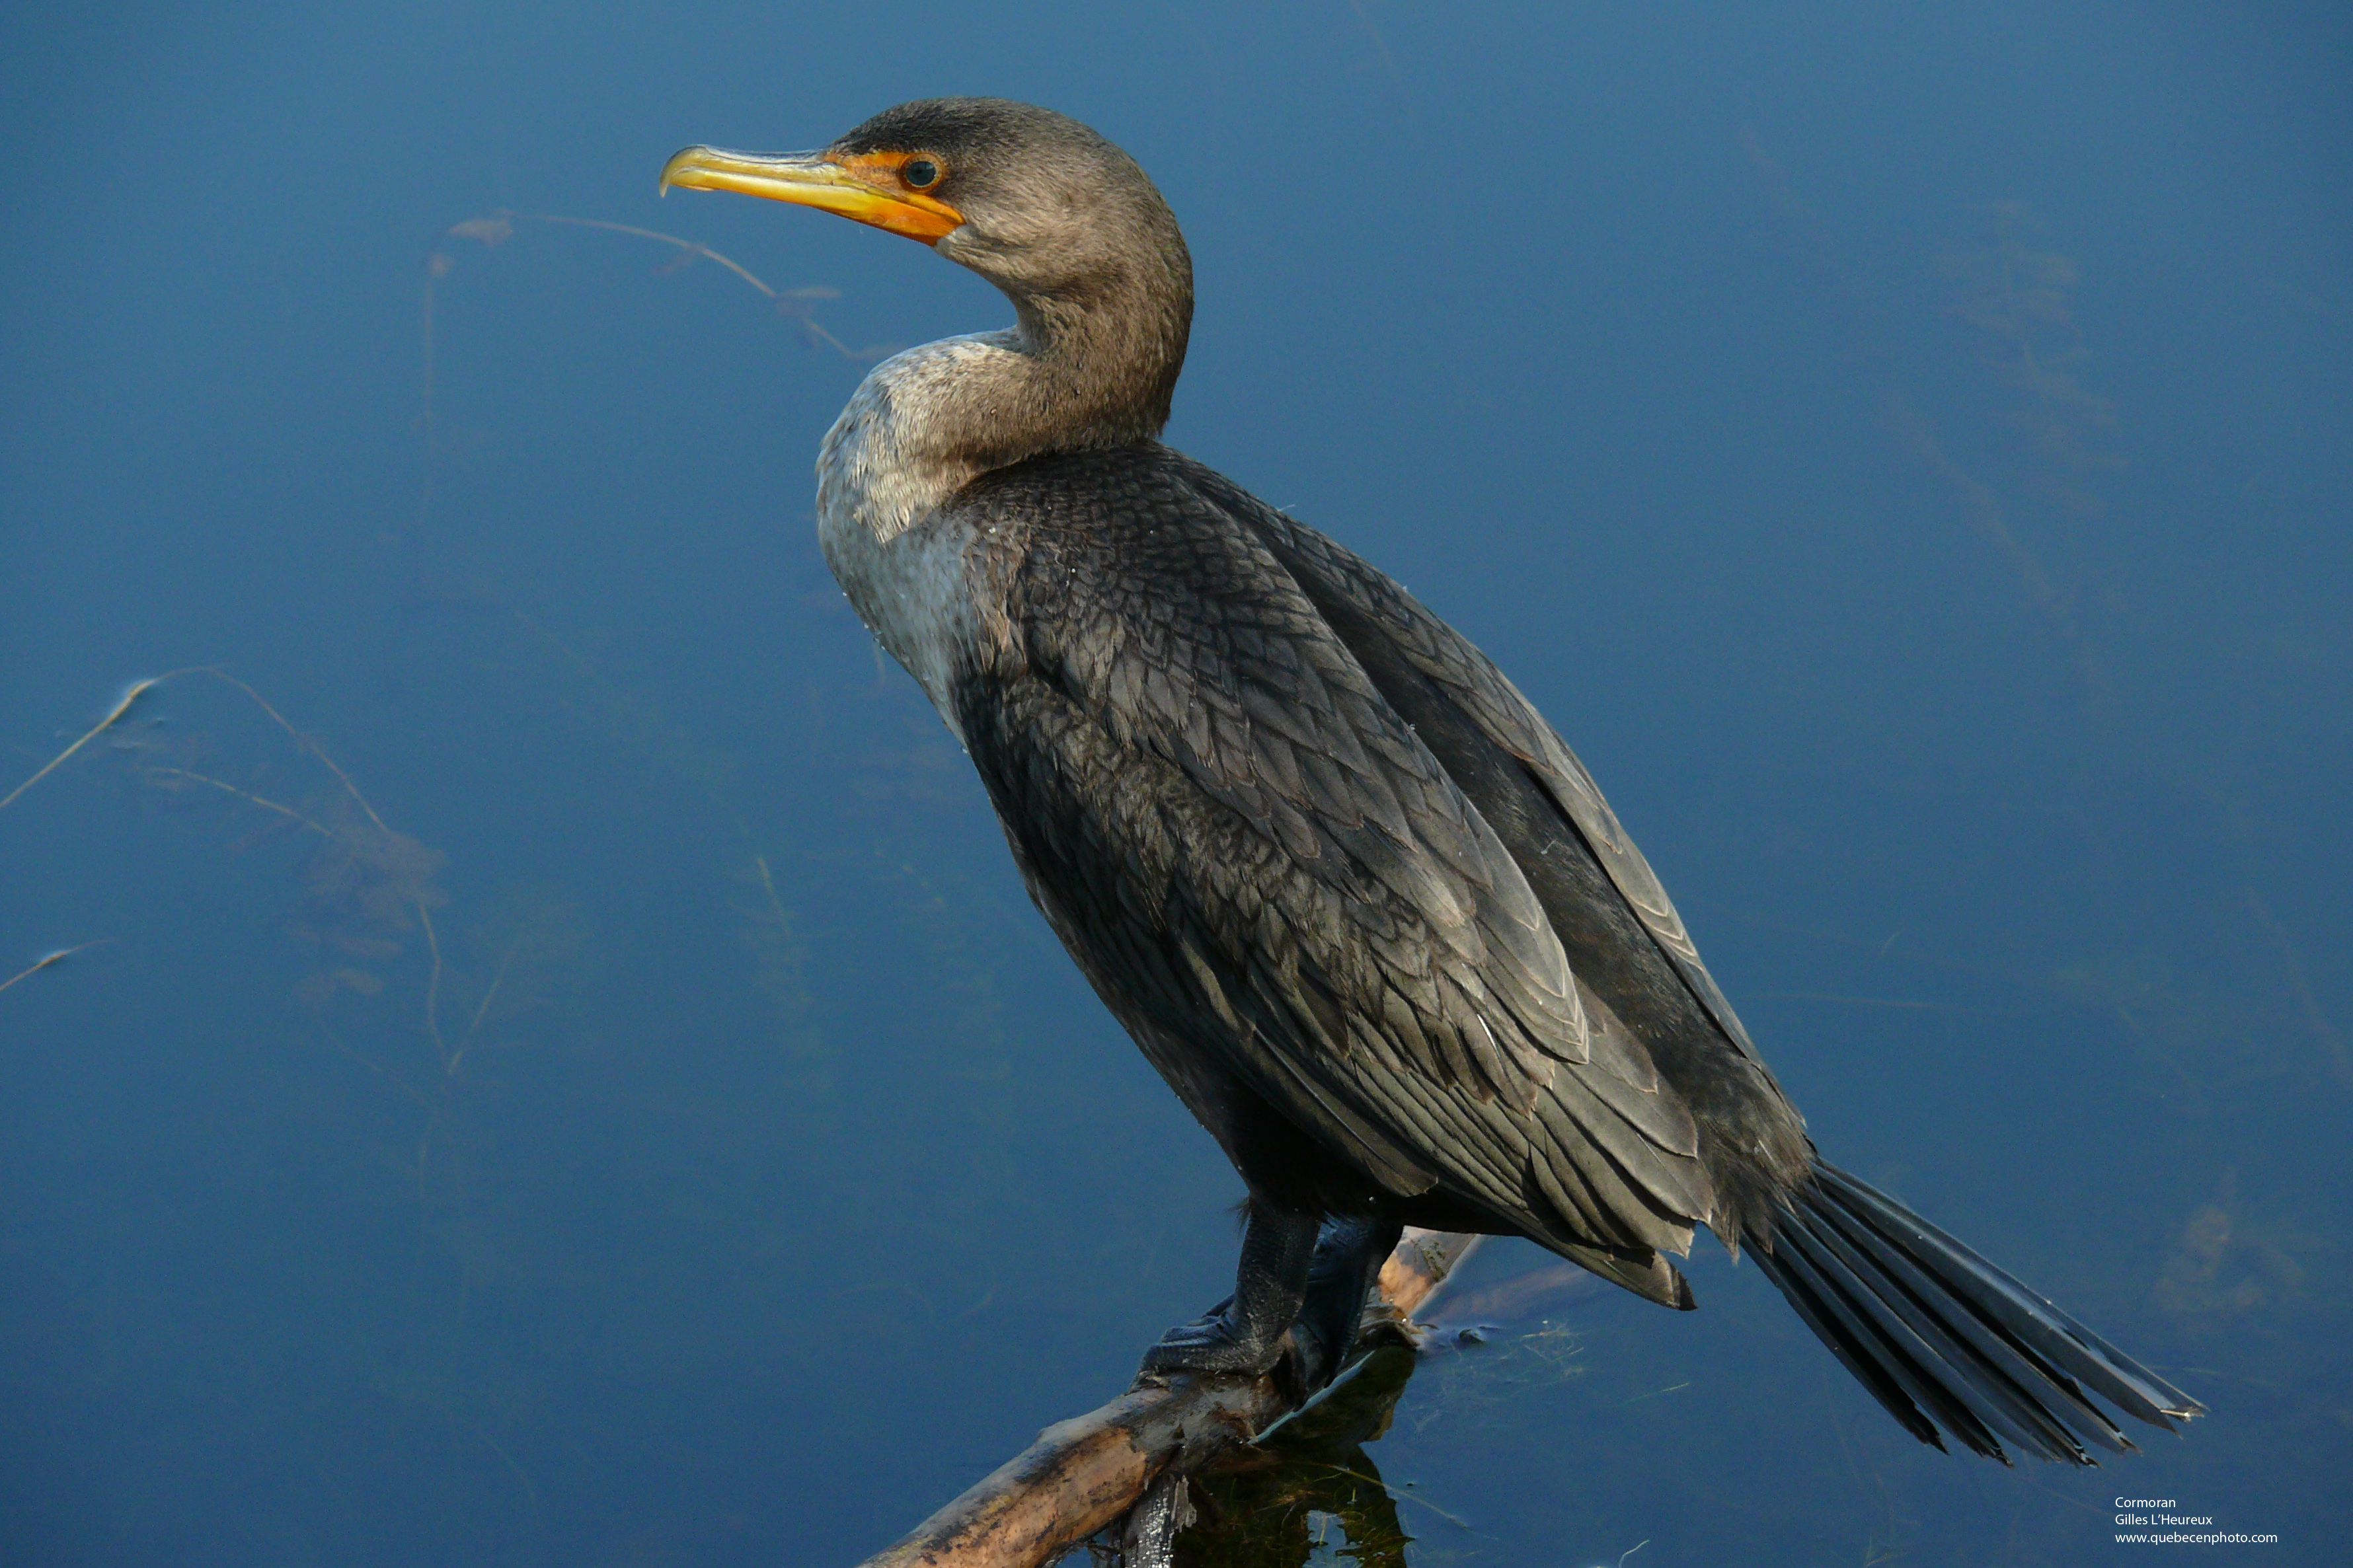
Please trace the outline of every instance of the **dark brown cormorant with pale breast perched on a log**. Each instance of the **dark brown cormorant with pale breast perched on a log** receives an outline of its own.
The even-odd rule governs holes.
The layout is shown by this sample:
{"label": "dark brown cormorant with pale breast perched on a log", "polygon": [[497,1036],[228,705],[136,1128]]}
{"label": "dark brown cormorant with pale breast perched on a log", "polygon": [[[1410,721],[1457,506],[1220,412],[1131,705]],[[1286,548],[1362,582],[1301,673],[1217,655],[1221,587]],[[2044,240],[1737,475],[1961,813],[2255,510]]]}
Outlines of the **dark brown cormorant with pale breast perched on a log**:
{"label": "dark brown cormorant with pale breast perched on a log", "polygon": [[1235,1291],[1146,1368],[1327,1378],[1402,1225],[1668,1307],[1706,1225],[1920,1441],[2089,1465],[2202,1406],[1814,1152],[1593,776],[1454,628],[1162,447],[1167,202],[1075,120],[901,103],[664,188],[908,235],[1002,331],[885,360],[816,527],[972,755],[1047,924],[1249,1187]]}

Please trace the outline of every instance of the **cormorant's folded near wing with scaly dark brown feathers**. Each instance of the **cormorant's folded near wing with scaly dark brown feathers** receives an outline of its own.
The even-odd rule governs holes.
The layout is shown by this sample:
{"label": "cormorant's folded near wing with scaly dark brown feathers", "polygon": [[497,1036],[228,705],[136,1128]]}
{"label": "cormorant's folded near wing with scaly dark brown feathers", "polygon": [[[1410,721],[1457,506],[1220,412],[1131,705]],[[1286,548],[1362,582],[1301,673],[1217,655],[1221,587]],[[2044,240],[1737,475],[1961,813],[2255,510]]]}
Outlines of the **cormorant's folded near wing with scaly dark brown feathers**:
{"label": "cormorant's folded near wing with scaly dark brown feathers", "polygon": [[1692,1112],[1478,806],[1224,508],[1024,468],[960,722],[1089,978],[1393,1192],[1682,1300],[1649,1253],[1713,1211]]}

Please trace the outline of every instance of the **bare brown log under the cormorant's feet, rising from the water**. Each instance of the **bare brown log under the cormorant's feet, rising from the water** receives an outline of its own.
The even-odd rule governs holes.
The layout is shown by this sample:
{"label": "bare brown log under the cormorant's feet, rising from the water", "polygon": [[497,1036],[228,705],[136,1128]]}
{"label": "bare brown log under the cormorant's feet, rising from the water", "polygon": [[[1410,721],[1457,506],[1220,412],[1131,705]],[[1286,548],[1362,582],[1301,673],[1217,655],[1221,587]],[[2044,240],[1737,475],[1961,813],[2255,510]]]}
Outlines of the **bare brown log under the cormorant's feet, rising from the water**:
{"label": "bare brown log under the cormorant's feet, rising from the water", "polygon": [[[1475,1244],[1478,1237],[1461,1232],[1407,1229],[1381,1265],[1379,1293],[1391,1316],[1367,1314],[1358,1354],[1400,1333],[1409,1338],[1414,1309],[1445,1286]],[[1120,1399],[1040,1432],[1035,1443],[861,1568],[1045,1568],[1061,1561],[1155,1483],[1193,1474],[1297,1410],[1292,1380],[1278,1373],[1141,1378]]]}

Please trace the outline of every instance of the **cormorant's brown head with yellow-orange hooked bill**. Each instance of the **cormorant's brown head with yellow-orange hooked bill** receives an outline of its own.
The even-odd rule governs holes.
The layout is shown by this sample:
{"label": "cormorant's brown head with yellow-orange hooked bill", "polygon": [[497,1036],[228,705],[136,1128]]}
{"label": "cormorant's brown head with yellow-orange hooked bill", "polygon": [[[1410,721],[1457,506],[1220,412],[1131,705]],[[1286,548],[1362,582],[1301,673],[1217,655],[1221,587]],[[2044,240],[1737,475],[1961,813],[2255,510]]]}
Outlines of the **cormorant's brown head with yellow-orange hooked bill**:
{"label": "cormorant's brown head with yellow-orange hooked bill", "polygon": [[685,148],[661,186],[765,195],[922,240],[998,284],[1045,339],[1085,315],[1174,313],[1181,355],[1193,263],[1176,216],[1136,160],[1052,108],[925,99],[816,153]]}

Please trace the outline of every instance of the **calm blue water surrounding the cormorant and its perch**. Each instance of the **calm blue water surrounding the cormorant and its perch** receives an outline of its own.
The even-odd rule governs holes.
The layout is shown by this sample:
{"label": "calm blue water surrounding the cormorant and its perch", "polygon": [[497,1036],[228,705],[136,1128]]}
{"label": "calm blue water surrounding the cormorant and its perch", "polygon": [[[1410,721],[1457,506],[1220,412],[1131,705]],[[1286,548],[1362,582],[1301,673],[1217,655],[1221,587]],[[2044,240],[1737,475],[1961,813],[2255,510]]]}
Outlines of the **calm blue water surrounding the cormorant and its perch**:
{"label": "calm blue water surrounding the cormorant and its perch", "polygon": [[0,792],[198,670],[0,809],[0,980],[92,943],[0,992],[7,1561],[847,1563],[1226,1288],[812,538],[871,353],[1002,301],[654,197],[939,92],[1153,172],[1169,437],[1515,675],[1821,1145],[2214,1408],[1944,1458],[1697,1255],[1424,1366],[1407,1561],[2341,1559],[2332,7],[0,28]]}

